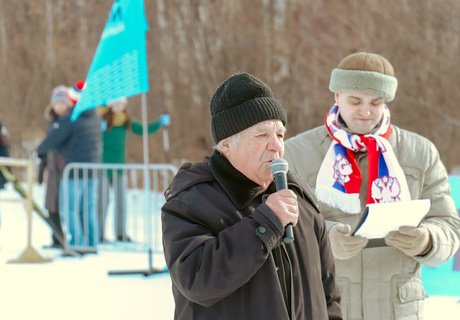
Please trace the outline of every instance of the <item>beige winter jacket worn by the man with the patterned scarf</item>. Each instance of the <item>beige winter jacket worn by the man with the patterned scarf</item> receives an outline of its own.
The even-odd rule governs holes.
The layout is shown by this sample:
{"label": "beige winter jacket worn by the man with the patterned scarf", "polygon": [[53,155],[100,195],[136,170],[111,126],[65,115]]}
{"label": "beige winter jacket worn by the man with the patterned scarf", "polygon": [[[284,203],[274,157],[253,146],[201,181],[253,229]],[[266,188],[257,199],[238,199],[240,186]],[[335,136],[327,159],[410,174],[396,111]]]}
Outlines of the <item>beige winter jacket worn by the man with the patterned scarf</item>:
{"label": "beige winter jacket worn by the man with the patterned scarf", "polygon": [[[289,169],[314,188],[316,176],[331,144],[324,126],[286,141]],[[422,223],[430,230],[433,248],[426,256],[411,258],[393,247],[364,249],[349,260],[336,259],[336,276],[342,294],[344,319],[422,319],[425,292],[421,263],[436,266],[452,257],[459,247],[460,220],[450,196],[447,172],[433,143],[393,126],[389,137],[395,155],[415,199],[430,199],[431,209]],[[362,181],[367,181],[367,155],[357,155]],[[360,199],[365,199],[366,183]],[[362,203],[364,201],[361,200]],[[328,225],[341,222],[354,228],[360,215],[322,205]]]}

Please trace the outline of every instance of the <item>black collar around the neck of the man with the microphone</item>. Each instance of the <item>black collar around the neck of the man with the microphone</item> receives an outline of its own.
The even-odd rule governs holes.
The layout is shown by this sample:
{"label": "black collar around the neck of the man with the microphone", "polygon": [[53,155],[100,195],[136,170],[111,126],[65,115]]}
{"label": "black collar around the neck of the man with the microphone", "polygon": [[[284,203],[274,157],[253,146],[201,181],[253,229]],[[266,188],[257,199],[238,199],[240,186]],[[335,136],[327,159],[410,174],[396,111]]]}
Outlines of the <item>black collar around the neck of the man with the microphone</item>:
{"label": "black collar around the neck of the man with the microphone", "polygon": [[[264,189],[239,172],[219,151],[214,151],[208,162],[217,183],[224,189],[238,209],[243,209]],[[268,188],[271,191],[273,183]]]}

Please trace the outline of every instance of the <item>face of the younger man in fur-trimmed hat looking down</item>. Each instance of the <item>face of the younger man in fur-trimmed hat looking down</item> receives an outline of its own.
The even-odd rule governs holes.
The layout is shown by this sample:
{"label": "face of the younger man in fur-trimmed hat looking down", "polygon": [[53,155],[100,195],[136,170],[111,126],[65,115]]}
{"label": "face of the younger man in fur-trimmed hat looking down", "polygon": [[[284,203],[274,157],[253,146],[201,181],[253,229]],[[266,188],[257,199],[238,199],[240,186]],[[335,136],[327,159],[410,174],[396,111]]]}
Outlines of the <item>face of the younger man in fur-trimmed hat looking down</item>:
{"label": "face of the younger man in fur-trimmed hat looking down", "polygon": [[335,94],[340,116],[352,133],[370,133],[383,117],[385,100],[369,94],[340,92]]}

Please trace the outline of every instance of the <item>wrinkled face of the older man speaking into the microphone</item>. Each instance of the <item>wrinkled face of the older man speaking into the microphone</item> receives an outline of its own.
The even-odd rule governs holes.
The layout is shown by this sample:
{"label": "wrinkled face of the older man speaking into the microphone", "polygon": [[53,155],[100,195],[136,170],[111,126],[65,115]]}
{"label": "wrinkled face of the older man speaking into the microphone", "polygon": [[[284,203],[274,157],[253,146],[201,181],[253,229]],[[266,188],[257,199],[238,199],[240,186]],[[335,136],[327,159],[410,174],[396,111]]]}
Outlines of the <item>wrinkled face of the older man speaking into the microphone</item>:
{"label": "wrinkled face of the older man speaking into the microphone", "polygon": [[221,151],[238,171],[267,188],[273,180],[270,162],[284,155],[285,133],[280,120],[266,120],[222,140]]}

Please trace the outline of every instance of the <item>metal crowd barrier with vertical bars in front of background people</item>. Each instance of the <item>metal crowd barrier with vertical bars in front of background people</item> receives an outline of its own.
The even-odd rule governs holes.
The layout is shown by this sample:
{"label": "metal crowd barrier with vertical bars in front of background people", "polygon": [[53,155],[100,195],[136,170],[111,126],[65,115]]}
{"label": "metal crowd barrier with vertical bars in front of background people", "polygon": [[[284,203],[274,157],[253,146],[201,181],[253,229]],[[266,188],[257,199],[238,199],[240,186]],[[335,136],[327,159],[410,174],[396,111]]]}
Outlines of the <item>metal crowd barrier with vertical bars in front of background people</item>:
{"label": "metal crowd barrier with vertical bars in front of background people", "polygon": [[68,164],[60,190],[64,249],[162,253],[163,193],[176,172],[170,164]]}

